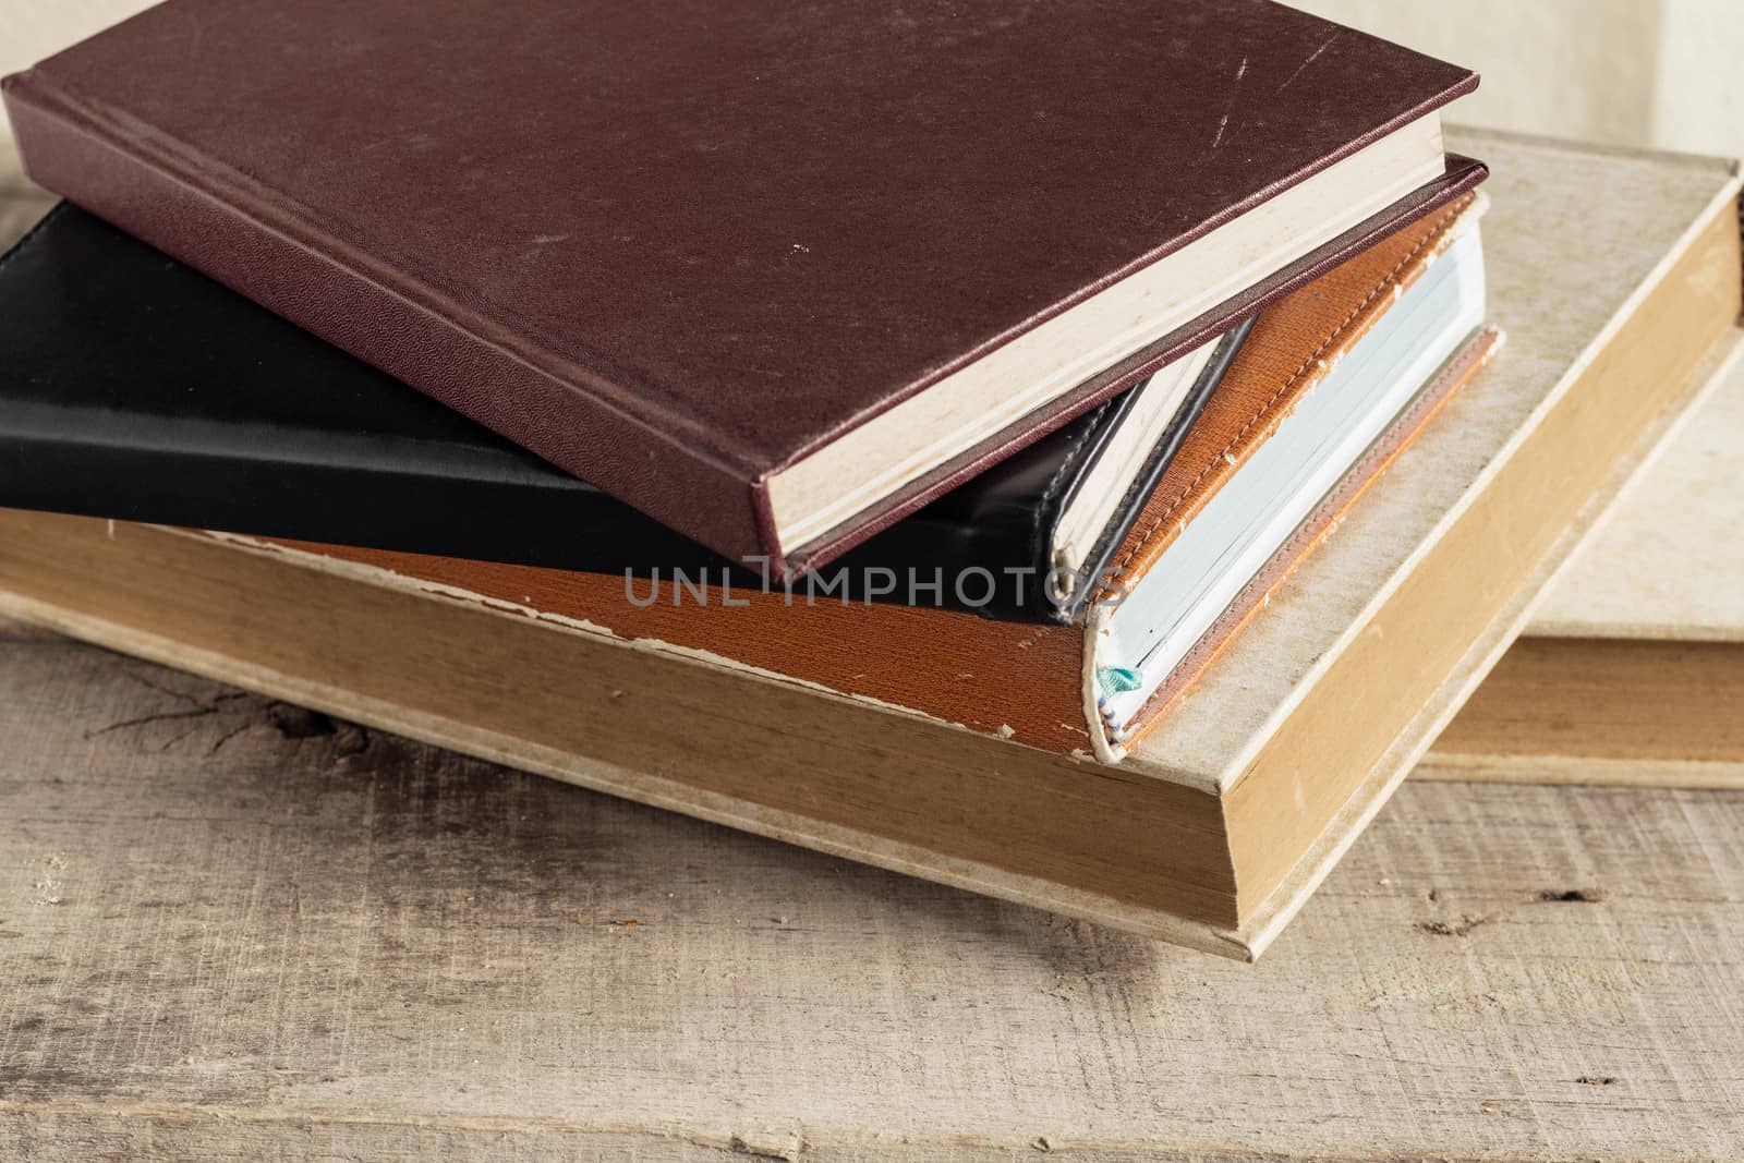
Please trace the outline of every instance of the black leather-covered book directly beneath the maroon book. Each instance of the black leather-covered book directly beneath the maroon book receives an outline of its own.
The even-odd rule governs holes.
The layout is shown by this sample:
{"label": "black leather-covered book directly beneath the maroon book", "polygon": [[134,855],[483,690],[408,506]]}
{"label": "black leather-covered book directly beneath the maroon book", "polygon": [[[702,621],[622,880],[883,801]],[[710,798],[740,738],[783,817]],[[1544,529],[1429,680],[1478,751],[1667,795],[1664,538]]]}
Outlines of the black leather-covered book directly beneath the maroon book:
{"label": "black leather-covered book directly beneath the maroon book", "polygon": [[[0,506],[598,574],[734,565],[70,204],[0,256]],[[1046,579],[1106,568],[1245,331],[828,574],[856,598],[1073,621],[1093,586]],[[968,570],[998,584],[909,584]]]}

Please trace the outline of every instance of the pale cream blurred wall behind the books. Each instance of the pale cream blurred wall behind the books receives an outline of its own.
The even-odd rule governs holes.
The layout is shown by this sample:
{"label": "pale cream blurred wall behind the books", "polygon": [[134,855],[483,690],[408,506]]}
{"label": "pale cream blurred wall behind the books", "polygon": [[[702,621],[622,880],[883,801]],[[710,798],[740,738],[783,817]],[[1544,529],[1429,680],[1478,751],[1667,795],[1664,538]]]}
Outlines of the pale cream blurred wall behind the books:
{"label": "pale cream blurred wall behind the books", "polygon": [[[1744,157],[1744,0],[1289,2],[1482,71],[1465,124]],[[145,7],[0,0],[0,71]]]}

